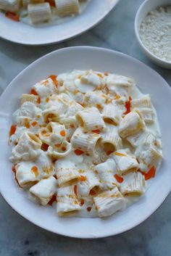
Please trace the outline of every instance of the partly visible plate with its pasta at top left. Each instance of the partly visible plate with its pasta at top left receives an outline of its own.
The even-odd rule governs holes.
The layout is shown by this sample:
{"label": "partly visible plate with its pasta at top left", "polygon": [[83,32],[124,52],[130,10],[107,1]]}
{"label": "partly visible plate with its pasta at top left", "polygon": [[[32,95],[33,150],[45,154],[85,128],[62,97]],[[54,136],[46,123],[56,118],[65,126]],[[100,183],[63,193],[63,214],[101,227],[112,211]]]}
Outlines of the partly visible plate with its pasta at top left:
{"label": "partly visible plate with its pasta at top left", "polygon": [[92,28],[118,1],[0,0],[0,36],[18,44],[54,44]]}

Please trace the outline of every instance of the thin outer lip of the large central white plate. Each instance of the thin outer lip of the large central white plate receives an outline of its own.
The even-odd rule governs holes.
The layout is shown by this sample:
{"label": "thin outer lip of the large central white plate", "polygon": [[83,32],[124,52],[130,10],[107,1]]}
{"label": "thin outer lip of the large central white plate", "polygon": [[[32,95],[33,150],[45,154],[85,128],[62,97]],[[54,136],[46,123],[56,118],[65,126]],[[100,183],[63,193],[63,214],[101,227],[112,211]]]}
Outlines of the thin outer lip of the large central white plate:
{"label": "thin outer lip of the large central white plate", "polygon": [[[120,53],[118,51],[113,51],[111,49],[104,49],[104,48],[99,48],[99,47],[93,47],[93,46],[73,46],[73,47],[67,47],[67,48],[63,48],[63,49],[59,49],[56,51],[51,51],[51,53],[44,55],[43,57],[37,59],[35,62],[31,63],[30,65],[28,65],[28,67],[26,67],[24,70],[22,70],[13,80],[11,83],[9,83],[9,86],[7,86],[7,88],[4,90],[3,94],[1,94],[0,97],[0,101],[1,99],[5,96],[5,94],[8,93],[9,89],[12,87],[12,83],[14,83],[15,80],[17,80],[17,78],[19,78],[23,73],[25,73],[25,70],[28,70],[30,67],[32,67],[33,65],[37,65],[38,62],[41,62],[41,60],[45,59],[46,57],[51,57],[53,56],[53,54],[57,54],[57,53],[62,53],[62,51],[77,51],[80,49],[83,50],[94,50],[94,51],[104,51],[104,52],[108,52],[111,54],[116,54],[117,56],[122,56],[122,57],[126,57],[128,59],[130,59],[130,61],[134,61],[136,62],[138,65],[142,65],[143,67],[148,68],[149,70],[151,70],[152,73],[154,73],[155,75],[158,75],[158,77],[160,79],[163,80],[164,86],[167,89],[167,93],[170,94],[170,99],[171,99],[171,89],[170,86],[167,84],[167,82],[162,78],[161,75],[159,75],[156,71],[152,70],[151,67],[148,67],[147,65],[145,65],[143,62],[140,62],[138,59],[134,59],[133,57],[128,56],[127,54],[123,54]],[[1,118],[0,118],[1,119]],[[0,189],[1,189],[1,183],[0,183]],[[43,226],[40,225],[38,223],[36,223],[33,219],[28,218],[27,216],[25,216],[22,212],[20,212],[19,210],[17,210],[17,206],[15,207],[14,205],[11,205],[9,202],[9,199],[6,197],[6,195],[1,191],[1,196],[4,198],[4,200],[8,203],[8,205],[10,205],[10,207],[12,207],[13,210],[15,210],[16,212],[18,212],[20,215],[22,215],[23,218],[26,218],[27,220],[29,220],[31,223],[34,223],[36,226],[46,229],[47,231],[51,231],[54,234],[61,234],[63,236],[70,236],[70,237],[74,237],[74,238],[81,238],[81,239],[92,239],[92,238],[102,238],[102,237],[107,237],[107,236],[113,236],[113,235],[117,235],[117,234],[121,234],[125,231],[128,231],[132,228],[134,228],[135,226],[140,225],[144,220],[146,220],[147,218],[149,218],[151,216],[151,214],[153,214],[164,202],[164,200],[167,198],[167,196],[170,194],[171,191],[171,183],[170,183],[170,187],[167,188],[167,191],[165,191],[164,196],[162,197],[162,199],[159,200],[159,202],[155,205],[154,209],[149,212],[146,216],[144,216],[144,218],[141,218],[141,220],[135,220],[134,225],[128,226],[127,228],[122,228],[121,231],[117,231],[114,233],[114,231],[106,231],[103,234],[98,234],[98,235],[93,235],[93,234],[83,234],[83,235],[79,235],[77,236],[77,234],[66,234],[65,231],[53,231],[51,230],[51,228],[48,228],[47,226]]]}

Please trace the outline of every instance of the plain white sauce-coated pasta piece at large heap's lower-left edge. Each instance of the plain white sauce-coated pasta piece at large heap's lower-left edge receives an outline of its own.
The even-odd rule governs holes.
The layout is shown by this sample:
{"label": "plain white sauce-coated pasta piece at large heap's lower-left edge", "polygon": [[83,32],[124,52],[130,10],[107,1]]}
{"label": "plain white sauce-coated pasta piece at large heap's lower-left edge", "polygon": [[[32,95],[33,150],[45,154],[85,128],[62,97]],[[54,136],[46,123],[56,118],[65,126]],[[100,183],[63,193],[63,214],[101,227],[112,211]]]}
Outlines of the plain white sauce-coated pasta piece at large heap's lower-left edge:
{"label": "plain white sauce-coated pasta piece at large heap's lower-left edge", "polygon": [[47,205],[51,197],[57,193],[57,180],[53,176],[43,178],[36,185],[32,186],[29,191],[41,205]]}

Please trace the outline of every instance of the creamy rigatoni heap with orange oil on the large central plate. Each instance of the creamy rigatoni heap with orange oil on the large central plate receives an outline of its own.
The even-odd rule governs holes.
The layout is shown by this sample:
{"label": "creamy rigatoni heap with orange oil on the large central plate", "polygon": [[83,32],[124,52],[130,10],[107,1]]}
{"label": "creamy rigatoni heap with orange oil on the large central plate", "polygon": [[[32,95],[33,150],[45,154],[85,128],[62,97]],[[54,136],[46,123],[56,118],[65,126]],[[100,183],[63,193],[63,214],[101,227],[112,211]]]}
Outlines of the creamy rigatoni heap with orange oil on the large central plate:
{"label": "creamy rigatoni heap with orange oil on the large central plate", "polygon": [[33,202],[56,204],[60,217],[124,210],[145,194],[162,161],[151,98],[123,75],[51,75],[22,94],[13,120],[14,178]]}

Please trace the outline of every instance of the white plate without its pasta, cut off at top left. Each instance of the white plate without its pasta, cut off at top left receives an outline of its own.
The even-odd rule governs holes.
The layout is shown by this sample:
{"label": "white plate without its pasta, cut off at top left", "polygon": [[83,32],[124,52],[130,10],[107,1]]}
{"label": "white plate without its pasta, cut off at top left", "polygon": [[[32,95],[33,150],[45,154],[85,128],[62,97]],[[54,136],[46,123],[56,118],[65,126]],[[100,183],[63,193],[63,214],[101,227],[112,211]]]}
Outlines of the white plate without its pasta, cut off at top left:
{"label": "white plate without its pasta, cut off at top left", "polygon": [[80,15],[68,22],[36,28],[9,20],[0,12],[0,36],[18,44],[43,45],[64,41],[92,28],[100,22],[119,0],[91,0]]}

